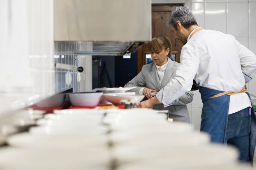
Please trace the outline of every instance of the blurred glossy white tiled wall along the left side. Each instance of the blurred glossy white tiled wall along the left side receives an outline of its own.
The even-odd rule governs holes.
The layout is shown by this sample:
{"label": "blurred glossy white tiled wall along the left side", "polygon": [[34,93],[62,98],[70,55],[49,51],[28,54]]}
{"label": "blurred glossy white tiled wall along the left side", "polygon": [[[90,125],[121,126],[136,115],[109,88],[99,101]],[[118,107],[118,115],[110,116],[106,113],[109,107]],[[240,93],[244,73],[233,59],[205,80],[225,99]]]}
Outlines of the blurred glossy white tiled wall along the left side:
{"label": "blurred glossy white tiled wall along the left side", "polygon": [[0,0],[0,23],[0,115],[78,89],[73,72],[54,68],[55,62],[78,63],[72,51],[54,44],[53,0]]}

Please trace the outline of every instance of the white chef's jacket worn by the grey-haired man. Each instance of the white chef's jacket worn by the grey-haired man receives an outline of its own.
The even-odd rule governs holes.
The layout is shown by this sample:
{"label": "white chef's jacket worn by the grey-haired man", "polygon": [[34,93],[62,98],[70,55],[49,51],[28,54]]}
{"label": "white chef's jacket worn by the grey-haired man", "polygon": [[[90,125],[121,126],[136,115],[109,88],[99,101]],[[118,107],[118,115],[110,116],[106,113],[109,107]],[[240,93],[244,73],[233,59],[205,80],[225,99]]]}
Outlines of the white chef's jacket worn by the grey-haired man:
{"label": "white chef's jacket worn by the grey-haired man", "polygon": [[[176,77],[156,97],[167,107],[190,91],[193,79],[198,85],[210,89],[237,91],[255,72],[255,54],[234,36],[215,30],[201,30],[182,47],[181,65]],[[245,93],[231,95],[229,114],[250,106],[250,99]]]}

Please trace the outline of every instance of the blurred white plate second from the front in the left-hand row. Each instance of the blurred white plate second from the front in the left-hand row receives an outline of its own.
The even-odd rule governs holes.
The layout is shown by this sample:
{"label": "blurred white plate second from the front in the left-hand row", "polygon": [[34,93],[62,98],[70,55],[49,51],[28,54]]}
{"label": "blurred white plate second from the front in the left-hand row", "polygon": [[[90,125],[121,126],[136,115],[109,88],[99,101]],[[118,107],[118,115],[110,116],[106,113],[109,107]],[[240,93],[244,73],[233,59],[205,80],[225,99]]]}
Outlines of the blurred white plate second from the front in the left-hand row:
{"label": "blurred white plate second from the front in the left-hand row", "polygon": [[[7,137],[10,146],[37,149],[88,149],[94,147],[94,152],[106,149],[107,135],[31,135],[28,132]],[[96,148],[96,149],[95,149]]]}

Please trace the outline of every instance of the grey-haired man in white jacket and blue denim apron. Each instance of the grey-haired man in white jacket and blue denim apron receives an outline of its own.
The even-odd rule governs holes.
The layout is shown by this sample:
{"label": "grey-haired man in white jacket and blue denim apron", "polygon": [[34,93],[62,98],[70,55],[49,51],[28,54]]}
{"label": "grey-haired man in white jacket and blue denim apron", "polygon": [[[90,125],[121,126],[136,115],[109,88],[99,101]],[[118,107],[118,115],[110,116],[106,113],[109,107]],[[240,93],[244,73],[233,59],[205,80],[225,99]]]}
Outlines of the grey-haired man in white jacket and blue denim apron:
{"label": "grey-haired man in white jacket and blue denim apron", "polygon": [[192,86],[197,87],[203,102],[201,131],[212,142],[238,147],[241,162],[252,162],[256,116],[245,83],[256,73],[255,54],[232,35],[199,27],[187,7],[177,7],[169,25],[184,44],[181,65],[176,77],[140,107],[170,106]]}

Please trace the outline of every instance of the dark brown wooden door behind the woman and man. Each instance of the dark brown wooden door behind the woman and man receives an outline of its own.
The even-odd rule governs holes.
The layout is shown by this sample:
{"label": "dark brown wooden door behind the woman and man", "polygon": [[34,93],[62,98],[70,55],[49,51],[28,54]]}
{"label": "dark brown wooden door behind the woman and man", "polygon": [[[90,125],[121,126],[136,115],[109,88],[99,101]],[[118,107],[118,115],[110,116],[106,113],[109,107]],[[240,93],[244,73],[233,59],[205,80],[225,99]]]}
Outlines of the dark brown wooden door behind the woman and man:
{"label": "dark brown wooden door behind the woman and man", "polygon": [[[182,49],[182,42],[175,38],[174,32],[167,27],[171,11],[177,6],[183,6],[183,4],[177,5],[152,5],[152,38],[156,35],[167,36],[171,40],[172,44],[172,56],[175,57],[175,61],[180,63],[180,53]],[[146,55],[150,54],[146,46],[138,49],[138,73],[141,71],[142,66],[146,64]]]}

